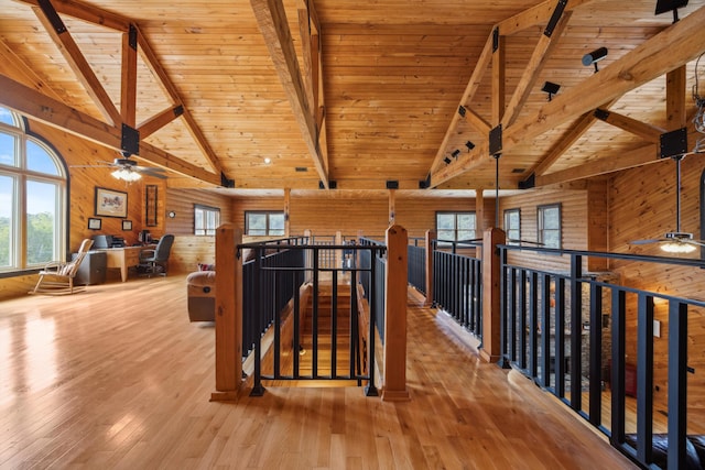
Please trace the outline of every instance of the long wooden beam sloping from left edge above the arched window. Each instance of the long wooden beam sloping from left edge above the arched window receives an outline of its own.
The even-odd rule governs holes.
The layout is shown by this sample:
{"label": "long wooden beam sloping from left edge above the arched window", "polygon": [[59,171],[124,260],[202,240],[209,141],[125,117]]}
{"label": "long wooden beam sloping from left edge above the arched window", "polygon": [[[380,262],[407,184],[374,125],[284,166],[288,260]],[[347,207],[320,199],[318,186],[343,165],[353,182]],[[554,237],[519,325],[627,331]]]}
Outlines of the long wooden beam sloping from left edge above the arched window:
{"label": "long wooden beam sloping from left edge above the arched window", "polygon": [[[3,90],[0,95],[0,105],[116,152],[122,151],[122,129],[120,127],[85,114],[4,75],[0,75],[0,89]],[[208,173],[145,142],[140,143],[139,157],[184,176],[213,185],[221,184],[220,175]]]}

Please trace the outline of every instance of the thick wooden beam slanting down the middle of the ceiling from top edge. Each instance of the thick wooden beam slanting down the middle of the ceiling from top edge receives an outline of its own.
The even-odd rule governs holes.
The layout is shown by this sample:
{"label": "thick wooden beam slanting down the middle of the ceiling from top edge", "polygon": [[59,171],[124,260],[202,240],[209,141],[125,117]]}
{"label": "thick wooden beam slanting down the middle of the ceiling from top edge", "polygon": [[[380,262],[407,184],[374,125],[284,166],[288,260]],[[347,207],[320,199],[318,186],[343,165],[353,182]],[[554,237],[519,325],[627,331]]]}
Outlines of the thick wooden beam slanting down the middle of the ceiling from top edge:
{"label": "thick wooden beam slanting down the middle of the ceiling from top edge", "polygon": [[289,97],[294,119],[301,129],[304,143],[313,159],[321,182],[327,189],[327,162],[321,152],[318,130],[314,121],[312,103],[306,99],[306,90],[296,58],[294,42],[286,22],[286,13],[281,0],[250,0],[257,23],[264,36],[279,79]]}

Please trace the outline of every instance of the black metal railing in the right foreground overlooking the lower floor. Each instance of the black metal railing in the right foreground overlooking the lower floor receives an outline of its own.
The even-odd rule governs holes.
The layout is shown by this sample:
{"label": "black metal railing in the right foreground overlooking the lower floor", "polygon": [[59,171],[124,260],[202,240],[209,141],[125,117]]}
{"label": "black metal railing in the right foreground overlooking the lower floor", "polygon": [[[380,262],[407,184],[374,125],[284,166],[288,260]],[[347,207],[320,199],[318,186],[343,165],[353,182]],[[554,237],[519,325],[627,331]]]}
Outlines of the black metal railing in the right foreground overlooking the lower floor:
{"label": "black metal railing in the right foreground overlooking the lower floor", "polygon": [[[694,435],[702,439],[705,433],[698,397],[688,400],[687,393],[688,374],[695,372],[688,361],[702,363],[703,353],[703,345],[692,345],[688,353],[688,320],[702,325],[705,303],[619,285],[609,275],[584,273],[583,262],[596,256],[664,270],[674,264],[704,267],[703,262],[498,247],[502,259],[503,364],[521,370],[557,396],[640,466],[685,468],[687,452],[694,451],[688,440]],[[520,251],[551,260],[567,256],[570,272],[549,272],[507,261],[508,255]],[[668,318],[666,338],[654,339],[659,334],[654,325],[661,325],[654,324],[657,307],[662,310],[659,318]],[[668,368],[665,390],[663,381],[654,382],[654,341],[666,341],[665,348],[658,348],[659,357],[666,357],[666,364],[660,361],[661,368]],[[636,351],[636,358],[628,358],[628,350]],[[657,400],[657,394],[666,397]],[[668,457],[659,451],[664,446]]]}

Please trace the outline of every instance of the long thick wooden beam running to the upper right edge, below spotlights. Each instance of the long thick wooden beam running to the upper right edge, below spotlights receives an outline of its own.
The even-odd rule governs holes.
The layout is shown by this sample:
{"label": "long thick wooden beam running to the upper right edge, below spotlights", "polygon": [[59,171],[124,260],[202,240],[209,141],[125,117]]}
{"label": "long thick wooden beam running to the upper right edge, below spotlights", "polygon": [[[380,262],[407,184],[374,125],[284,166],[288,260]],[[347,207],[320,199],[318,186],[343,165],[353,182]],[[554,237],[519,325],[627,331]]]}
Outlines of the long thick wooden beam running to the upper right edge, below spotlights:
{"label": "long thick wooden beam running to the upper right edge, below spotlights", "polygon": [[[502,150],[541,135],[601,103],[622,96],[705,52],[705,7],[701,7],[661,33],[625,54],[579,86],[546,102],[538,111],[503,131]],[[674,47],[673,44],[677,44]],[[476,147],[477,150],[478,147]],[[469,152],[456,164],[432,173],[434,185],[452,179],[490,161],[486,153]]]}

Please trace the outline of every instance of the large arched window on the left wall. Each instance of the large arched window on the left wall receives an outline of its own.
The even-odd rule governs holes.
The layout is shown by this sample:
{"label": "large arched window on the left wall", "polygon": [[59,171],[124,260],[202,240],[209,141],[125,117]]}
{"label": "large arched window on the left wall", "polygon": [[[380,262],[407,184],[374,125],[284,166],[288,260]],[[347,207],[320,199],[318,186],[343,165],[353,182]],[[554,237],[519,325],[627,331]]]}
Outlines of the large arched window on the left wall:
{"label": "large arched window on the left wall", "polygon": [[66,168],[0,108],[0,273],[66,259]]}

